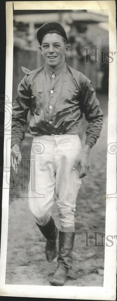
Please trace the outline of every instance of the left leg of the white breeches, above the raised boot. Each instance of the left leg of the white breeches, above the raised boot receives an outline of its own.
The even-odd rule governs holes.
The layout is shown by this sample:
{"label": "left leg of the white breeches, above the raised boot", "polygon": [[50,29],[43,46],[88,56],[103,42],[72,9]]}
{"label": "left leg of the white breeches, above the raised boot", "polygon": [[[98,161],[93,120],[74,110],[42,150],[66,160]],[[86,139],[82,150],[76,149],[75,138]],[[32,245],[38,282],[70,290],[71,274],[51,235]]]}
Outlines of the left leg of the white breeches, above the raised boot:
{"label": "left leg of the white breeches, above the raised boot", "polygon": [[54,189],[53,143],[44,136],[34,137],[31,148],[28,204],[39,225],[45,225],[50,220]]}

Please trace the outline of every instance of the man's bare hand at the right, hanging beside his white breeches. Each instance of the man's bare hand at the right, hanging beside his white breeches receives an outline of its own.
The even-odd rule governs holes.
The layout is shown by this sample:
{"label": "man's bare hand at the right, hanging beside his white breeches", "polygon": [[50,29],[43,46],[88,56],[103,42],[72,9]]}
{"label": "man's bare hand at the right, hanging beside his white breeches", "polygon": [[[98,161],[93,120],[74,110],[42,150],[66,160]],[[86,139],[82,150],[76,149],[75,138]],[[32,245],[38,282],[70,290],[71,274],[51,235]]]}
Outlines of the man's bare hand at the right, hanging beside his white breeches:
{"label": "man's bare hand at the right, hanging beside his white breeches", "polygon": [[82,153],[80,154],[79,160],[76,163],[77,166],[73,167],[73,170],[76,168],[79,169],[79,178],[85,177],[85,175],[87,175],[88,170],[90,168],[90,160],[89,160],[90,150],[91,147],[88,144],[85,144],[85,147]]}

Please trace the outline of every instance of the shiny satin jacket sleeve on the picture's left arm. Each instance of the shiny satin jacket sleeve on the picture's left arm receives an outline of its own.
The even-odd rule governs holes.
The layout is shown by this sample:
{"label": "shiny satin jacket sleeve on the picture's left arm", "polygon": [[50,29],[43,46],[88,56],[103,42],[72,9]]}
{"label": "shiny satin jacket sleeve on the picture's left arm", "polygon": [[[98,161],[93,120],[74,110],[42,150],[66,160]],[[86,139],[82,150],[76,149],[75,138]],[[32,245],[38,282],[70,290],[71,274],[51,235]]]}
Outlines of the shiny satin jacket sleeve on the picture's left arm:
{"label": "shiny satin jacket sleeve on the picture's left arm", "polygon": [[27,75],[18,85],[18,96],[12,105],[11,147],[24,139],[24,126],[31,106],[31,94],[27,84]]}

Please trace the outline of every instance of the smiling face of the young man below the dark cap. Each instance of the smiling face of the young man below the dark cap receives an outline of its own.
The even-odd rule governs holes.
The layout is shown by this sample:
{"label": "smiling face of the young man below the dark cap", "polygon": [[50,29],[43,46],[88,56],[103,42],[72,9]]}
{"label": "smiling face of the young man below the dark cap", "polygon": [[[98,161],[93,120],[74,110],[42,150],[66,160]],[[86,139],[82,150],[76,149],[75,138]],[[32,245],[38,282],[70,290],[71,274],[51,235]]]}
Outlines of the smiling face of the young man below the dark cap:
{"label": "smiling face of the young man below the dark cap", "polygon": [[69,51],[69,45],[57,33],[47,33],[39,48],[45,59],[45,64],[54,69],[64,64],[65,54]]}

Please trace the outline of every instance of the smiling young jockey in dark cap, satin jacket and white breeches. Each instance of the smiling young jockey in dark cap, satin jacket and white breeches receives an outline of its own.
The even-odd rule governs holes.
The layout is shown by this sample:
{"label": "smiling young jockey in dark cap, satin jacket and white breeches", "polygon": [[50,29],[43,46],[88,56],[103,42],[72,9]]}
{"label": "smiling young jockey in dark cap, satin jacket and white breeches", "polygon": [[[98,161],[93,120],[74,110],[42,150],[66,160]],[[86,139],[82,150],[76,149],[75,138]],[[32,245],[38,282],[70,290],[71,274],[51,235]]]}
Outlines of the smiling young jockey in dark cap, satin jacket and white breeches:
{"label": "smiling young jockey in dark cap, satin jacket and white breeches", "polygon": [[[63,27],[57,22],[46,23],[38,30],[37,39],[45,65],[33,71],[23,68],[26,75],[18,86],[20,109],[17,102],[13,104],[12,133],[17,132],[18,138],[12,137],[11,147],[23,139],[21,129],[30,109],[29,133],[34,135],[33,145],[42,145],[43,152],[35,154],[36,192],[29,188],[29,208],[47,239],[46,258],[52,262],[57,256],[57,228],[51,217],[56,195],[60,218],[59,255],[57,271],[50,283],[62,286],[72,266],[76,197],[81,178],[89,169],[91,147],[100,136],[103,113],[90,80],[65,63],[69,43]],[[82,113],[88,121],[83,150],[79,138]],[[18,155],[18,164],[20,161],[21,155]],[[45,197],[37,197],[37,193]]]}

